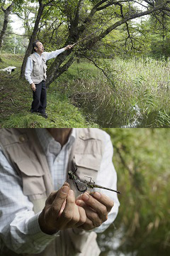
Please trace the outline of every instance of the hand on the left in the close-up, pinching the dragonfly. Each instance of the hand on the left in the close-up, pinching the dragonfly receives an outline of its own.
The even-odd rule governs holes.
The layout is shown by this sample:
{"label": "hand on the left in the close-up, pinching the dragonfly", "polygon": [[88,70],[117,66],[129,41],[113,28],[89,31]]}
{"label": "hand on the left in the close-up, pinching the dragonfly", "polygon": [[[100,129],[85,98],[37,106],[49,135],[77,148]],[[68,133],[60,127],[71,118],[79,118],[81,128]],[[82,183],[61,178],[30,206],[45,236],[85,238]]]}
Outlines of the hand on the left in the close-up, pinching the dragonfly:
{"label": "hand on the left in the close-up, pinching the dragonfly", "polygon": [[64,183],[58,191],[53,191],[45,202],[45,208],[38,218],[42,232],[52,235],[58,230],[76,228],[86,221],[84,208],[75,203],[74,191]]}

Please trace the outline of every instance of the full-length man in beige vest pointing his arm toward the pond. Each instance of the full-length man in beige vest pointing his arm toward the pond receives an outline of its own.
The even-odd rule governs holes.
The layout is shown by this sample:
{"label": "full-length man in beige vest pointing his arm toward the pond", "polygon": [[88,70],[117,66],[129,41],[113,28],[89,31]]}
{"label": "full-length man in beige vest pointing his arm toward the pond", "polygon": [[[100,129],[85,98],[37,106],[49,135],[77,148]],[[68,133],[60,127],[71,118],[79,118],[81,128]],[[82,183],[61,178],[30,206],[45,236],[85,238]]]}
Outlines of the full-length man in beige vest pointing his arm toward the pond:
{"label": "full-length man in beige vest pointing his arm toward the pond", "polygon": [[33,90],[33,102],[30,112],[40,113],[42,117],[47,118],[47,114],[45,112],[47,106],[47,93],[45,87],[45,80],[47,78],[46,61],[51,58],[56,58],[57,55],[63,53],[64,50],[69,50],[72,47],[72,45],[69,45],[60,50],[47,53],[44,52],[44,46],[39,40],[33,43],[34,53],[28,57],[25,72],[26,80],[28,80],[30,88]]}

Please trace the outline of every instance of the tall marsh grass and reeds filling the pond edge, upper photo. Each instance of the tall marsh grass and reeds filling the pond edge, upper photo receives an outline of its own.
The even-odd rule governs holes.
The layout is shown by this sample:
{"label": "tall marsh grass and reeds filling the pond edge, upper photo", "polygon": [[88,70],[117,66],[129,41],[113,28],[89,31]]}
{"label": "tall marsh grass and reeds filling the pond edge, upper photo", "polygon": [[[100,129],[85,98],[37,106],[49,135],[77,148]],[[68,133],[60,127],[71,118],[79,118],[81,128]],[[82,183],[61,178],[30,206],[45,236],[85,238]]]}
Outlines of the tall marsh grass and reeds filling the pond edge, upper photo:
{"label": "tall marsh grass and reeds filling the pond edge, upper photo", "polygon": [[57,92],[101,127],[169,127],[170,59],[115,58],[104,60],[105,65],[107,62],[113,83],[101,70],[82,61],[64,74]]}

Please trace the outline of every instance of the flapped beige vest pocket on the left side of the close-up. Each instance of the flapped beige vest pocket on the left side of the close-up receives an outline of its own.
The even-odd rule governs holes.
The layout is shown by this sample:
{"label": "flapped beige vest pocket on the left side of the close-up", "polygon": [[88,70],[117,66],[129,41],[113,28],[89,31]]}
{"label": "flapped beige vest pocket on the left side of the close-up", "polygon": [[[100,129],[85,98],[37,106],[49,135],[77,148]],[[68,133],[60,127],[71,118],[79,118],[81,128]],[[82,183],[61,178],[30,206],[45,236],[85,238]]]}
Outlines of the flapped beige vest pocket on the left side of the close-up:
{"label": "flapped beige vest pocket on the left side of the close-up", "polygon": [[24,159],[16,162],[23,180],[23,194],[31,199],[43,198],[45,193],[44,173],[37,161]]}

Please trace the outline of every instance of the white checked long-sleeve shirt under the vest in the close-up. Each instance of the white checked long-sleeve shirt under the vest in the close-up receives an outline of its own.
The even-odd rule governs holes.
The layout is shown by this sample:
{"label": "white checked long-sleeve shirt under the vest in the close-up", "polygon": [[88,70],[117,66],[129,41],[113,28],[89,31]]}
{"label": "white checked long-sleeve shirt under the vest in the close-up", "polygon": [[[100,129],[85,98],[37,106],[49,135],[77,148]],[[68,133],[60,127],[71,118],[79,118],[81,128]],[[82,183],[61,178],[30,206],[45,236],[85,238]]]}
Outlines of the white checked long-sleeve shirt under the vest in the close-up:
{"label": "white checked long-sleeve shirt under the vest in the close-up", "polygon": [[[72,144],[76,138],[75,129],[69,136],[67,144],[61,147],[46,129],[35,129],[42,149],[50,166],[55,189],[59,189],[67,176],[67,164]],[[116,189],[117,176],[112,163],[113,146],[106,132],[103,132],[105,150],[101,161],[96,183]],[[106,230],[118,214],[119,201],[117,194],[101,191],[112,198],[114,206],[108,214],[108,220],[96,228],[97,233]],[[0,248],[5,243],[17,253],[39,253],[55,239],[55,235],[42,233],[38,224],[38,214],[33,212],[33,203],[23,195],[22,179],[8,163],[0,148]]]}

